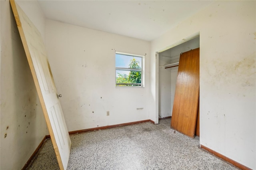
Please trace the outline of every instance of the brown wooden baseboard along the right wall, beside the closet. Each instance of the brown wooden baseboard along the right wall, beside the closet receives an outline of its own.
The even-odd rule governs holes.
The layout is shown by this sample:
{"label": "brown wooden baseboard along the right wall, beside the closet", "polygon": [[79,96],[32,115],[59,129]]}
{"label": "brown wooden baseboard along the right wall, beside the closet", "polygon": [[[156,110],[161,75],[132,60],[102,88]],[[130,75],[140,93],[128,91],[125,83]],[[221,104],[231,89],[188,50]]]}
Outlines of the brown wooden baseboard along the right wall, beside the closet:
{"label": "brown wooden baseboard along the right wall, beside the closet", "polygon": [[210,148],[207,148],[206,146],[204,146],[202,144],[200,144],[200,148],[202,148],[206,152],[209,152],[210,154],[213,154],[214,156],[216,156],[216,157],[218,157],[218,158],[220,158],[220,159],[222,159],[222,160],[224,160],[224,161],[226,161],[226,162],[228,162],[228,163],[230,163],[230,164],[232,164],[232,165],[234,165],[234,166],[236,166],[236,167],[238,167],[242,170],[252,170],[252,169],[248,168],[247,166],[244,166],[244,165],[242,165],[242,164],[240,164],[240,163],[238,163],[238,162],[236,162],[236,161],[234,161],[234,160],[232,160],[232,159],[230,159],[230,158],[228,158],[228,157],[226,157],[226,156],[224,156],[224,155],[222,155],[222,154],[220,154],[220,153],[218,153],[214,150],[211,150]]}

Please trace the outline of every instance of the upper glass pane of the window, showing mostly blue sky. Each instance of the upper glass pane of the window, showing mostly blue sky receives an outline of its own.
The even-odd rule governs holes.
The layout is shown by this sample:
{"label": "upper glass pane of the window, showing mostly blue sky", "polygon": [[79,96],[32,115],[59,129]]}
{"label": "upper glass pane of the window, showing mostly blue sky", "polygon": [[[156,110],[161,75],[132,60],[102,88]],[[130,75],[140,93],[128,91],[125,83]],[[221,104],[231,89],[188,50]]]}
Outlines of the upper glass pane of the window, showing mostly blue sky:
{"label": "upper glass pane of the window, showing mostly blue sky", "polygon": [[[135,63],[132,62],[134,59],[136,60],[136,68],[141,68],[142,57],[116,54],[116,67],[135,68],[134,65],[130,65],[130,63]],[[129,67],[129,65],[132,67]]]}

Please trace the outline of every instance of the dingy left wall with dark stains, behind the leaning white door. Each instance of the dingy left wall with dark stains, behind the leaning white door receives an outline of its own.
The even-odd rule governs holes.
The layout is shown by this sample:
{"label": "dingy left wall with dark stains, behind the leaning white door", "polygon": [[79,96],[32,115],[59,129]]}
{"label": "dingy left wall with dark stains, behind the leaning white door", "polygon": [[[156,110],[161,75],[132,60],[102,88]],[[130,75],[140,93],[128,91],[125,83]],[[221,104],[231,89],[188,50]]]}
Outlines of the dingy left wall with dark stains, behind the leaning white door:
{"label": "dingy left wall with dark stains, behind the leaning white door", "polygon": [[[23,2],[19,2],[22,4]],[[36,1],[29,17],[44,18]],[[9,1],[0,1],[1,170],[21,169],[46,134],[46,123]],[[38,26],[38,25],[37,25]],[[6,137],[5,137],[6,135]]]}

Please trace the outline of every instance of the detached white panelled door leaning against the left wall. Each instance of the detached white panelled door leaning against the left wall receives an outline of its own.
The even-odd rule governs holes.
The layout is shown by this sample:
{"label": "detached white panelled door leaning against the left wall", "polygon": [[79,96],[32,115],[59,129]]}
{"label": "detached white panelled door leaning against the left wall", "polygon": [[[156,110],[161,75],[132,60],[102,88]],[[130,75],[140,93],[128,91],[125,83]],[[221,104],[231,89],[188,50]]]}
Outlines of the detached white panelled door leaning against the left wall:
{"label": "detached white panelled door leaning against the left wall", "polygon": [[10,3],[42,105],[58,164],[60,169],[64,170],[68,165],[71,140],[62,113],[62,107],[57,97],[42,36],[16,2],[10,0]]}

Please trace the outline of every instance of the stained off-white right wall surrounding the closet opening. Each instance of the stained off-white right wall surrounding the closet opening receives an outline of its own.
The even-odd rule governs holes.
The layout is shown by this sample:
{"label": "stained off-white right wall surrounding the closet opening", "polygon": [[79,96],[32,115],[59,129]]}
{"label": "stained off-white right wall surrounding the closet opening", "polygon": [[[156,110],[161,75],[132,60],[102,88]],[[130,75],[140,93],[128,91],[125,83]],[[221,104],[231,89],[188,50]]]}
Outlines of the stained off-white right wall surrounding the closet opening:
{"label": "stained off-white right wall surrounding the closet opening", "polygon": [[256,2],[213,2],[154,40],[151,61],[156,63],[156,51],[196,32],[200,32],[200,144],[256,169]]}

